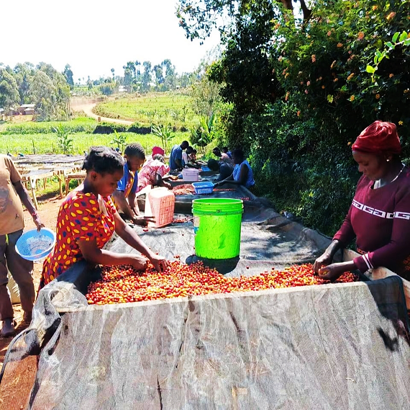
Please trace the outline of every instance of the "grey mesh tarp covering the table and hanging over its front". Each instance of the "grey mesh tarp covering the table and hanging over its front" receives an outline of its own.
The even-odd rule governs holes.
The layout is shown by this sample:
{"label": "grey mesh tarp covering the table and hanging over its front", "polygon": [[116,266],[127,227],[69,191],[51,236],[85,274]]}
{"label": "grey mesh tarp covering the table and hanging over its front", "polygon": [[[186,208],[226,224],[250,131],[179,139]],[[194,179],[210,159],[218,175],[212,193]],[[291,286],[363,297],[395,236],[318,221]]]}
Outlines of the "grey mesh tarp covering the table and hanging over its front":
{"label": "grey mesh tarp covering the table and hanging over its front", "polygon": [[[242,227],[249,241],[227,263],[230,275],[308,260],[329,243],[268,210],[245,219],[253,220]],[[153,250],[189,260],[192,231],[178,225],[142,236]],[[109,248],[129,251],[118,239]],[[6,363],[41,351],[28,408],[410,408],[398,277],[88,306],[84,293],[97,275],[80,262],[46,286],[31,326],[10,346]]]}

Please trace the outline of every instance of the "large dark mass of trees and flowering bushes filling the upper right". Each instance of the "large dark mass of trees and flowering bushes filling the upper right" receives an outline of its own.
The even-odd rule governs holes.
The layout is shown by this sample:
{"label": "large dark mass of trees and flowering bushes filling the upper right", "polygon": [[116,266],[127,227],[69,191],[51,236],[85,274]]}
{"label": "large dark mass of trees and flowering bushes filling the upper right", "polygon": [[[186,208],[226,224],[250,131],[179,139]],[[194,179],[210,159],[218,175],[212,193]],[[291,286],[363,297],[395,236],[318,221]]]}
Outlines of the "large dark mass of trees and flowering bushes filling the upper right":
{"label": "large dark mass of trees and flowering bushes filling the upper right", "polygon": [[209,70],[232,107],[219,142],[247,153],[257,194],[331,235],[359,178],[361,130],[395,122],[410,162],[410,2],[317,0],[300,20],[282,2],[240,4]]}

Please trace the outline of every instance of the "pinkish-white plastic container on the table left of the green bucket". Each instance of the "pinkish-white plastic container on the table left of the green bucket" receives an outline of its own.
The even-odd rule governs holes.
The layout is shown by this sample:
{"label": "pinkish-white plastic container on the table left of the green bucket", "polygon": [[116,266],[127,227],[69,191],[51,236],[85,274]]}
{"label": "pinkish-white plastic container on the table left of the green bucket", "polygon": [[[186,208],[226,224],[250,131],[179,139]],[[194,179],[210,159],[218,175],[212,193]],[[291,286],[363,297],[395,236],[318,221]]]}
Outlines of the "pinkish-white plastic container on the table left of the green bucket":
{"label": "pinkish-white plastic container on the table left of the green bucket", "polygon": [[[148,193],[147,199],[152,216],[155,218],[155,224],[152,226],[159,228],[172,222],[175,208],[175,195],[172,191],[164,187],[154,188]],[[147,216],[147,213],[145,214]]]}

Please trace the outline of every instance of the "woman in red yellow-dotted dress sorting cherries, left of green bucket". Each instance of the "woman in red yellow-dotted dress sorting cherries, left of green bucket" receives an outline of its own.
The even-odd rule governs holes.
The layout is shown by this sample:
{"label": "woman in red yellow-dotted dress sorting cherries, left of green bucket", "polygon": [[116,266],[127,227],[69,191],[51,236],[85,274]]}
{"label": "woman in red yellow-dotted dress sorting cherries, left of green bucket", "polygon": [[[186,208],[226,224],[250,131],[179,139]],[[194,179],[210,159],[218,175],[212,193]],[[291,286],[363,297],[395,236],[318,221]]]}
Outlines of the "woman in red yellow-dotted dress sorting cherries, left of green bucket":
{"label": "woman in red yellow-dotted dress sorting cherries, left of green bucket", "polygon": [[115,232],[145,255],[157,271],[167,268],[165,258],[153,253],[119,216],[111,200],[124,176],[124,158],[107,147],[92,147],[84,160],[86,178],[61,204],[57,217],[56,243],[46,258],[40,288],[63,274],[73,263],[86,260],[101,265],[132,265],[144,270],[147,260],[139,254],[107,251],[104,245]]}

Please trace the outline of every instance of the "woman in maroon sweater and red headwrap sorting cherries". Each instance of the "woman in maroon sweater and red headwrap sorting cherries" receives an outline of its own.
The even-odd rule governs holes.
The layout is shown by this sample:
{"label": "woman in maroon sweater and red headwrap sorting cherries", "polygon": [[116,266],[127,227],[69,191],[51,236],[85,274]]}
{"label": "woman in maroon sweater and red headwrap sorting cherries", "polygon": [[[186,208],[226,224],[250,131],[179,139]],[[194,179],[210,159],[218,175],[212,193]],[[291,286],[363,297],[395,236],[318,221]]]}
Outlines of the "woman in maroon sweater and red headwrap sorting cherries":
{"label": "woman in maroon sweater and red headwrap sorting cherries", "polygon": [[[345,271],[383,266],[410,279],[410,171],[400,161],[396,126],[375,121],[352,149],[363,175],[340,230],[313,269],[334,280]],[[355,237],[361,256],[332,263],[337,250]]]}

